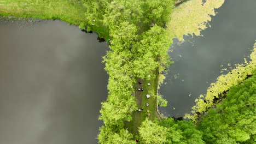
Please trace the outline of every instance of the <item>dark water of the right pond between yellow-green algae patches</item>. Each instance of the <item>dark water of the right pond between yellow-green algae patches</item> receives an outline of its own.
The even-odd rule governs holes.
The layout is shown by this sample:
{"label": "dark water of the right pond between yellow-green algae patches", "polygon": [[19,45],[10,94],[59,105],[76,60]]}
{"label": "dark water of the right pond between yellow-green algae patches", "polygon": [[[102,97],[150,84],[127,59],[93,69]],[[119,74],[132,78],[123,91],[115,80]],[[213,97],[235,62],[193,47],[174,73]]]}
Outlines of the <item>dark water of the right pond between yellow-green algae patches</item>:
{"label": "dark water of the right pond between yellow-green algae patches", "polygon": [[202,32],[204,37],[186,37],[185,43],[173,45],[170,56],[174,64],[159,91],[168,101],[167,107],[160,108],[162,113],[183,117],[223,68],[230,70],[243,63],[256,39],[255,6],[255,0],[226,0],[210,22],[212,27]]}

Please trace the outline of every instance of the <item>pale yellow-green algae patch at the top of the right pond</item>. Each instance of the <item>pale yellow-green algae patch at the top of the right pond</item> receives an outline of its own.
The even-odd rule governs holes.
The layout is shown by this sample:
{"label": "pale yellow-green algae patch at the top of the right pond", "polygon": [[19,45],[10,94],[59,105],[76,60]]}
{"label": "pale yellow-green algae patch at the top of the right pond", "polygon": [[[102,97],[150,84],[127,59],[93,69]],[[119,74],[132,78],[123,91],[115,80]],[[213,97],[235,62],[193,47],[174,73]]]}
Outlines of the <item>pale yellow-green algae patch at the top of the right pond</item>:
{"label": "pale yellow-green algae patch at the top of the right pond", "polygon": [[[185,1],[173,9],[171,21],[167,23],[169,37],[184,41],[183,35],[201,35],[201,31],[211,27],[208,22],[217,13],[214,9],[222,6],[224,0]],[[201,35],[202,36],[202,35]]]}

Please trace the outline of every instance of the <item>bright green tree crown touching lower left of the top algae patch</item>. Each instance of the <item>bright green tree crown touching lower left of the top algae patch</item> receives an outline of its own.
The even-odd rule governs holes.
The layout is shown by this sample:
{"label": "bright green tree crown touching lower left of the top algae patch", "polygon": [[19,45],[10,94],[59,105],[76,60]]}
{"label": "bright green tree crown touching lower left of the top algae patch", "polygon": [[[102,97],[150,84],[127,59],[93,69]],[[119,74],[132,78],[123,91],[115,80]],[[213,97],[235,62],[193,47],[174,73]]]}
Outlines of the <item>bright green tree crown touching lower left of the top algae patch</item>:
{"label": "bright green tree crown touching lower left of the top algae patch", "polygon": [[139,39],[133,47],[134,55],[138,57],[134,61],[136,70],[133,71],[138,77],[147,78],[148,74],[153,75],[156,68],[161,69],[162,65],[170,62],[167,51],[172,41],[168,39],[166,29],[158,25],[142,33]]}

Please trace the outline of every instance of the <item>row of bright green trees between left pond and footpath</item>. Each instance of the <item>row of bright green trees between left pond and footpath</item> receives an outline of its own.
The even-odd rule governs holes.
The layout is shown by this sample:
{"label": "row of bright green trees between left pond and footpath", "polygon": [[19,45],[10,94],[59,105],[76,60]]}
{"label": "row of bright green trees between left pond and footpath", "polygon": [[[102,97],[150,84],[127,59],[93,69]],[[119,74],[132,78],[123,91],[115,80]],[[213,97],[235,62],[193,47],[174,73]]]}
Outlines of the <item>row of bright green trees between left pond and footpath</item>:
{"label": "row of bright green trees between left pond and footpath", "polygon": [[116,123],[119,120],[131,121],[131,112],[136,110],[135,97],[131,87],[136,81],[130,77],[131,62],[124,52],[119,55],[113,51],[108,51],[104,57],[106,70],[109,74],[108,89],[109,95],[106,102],[102,103],[100,119],[105,124]]}

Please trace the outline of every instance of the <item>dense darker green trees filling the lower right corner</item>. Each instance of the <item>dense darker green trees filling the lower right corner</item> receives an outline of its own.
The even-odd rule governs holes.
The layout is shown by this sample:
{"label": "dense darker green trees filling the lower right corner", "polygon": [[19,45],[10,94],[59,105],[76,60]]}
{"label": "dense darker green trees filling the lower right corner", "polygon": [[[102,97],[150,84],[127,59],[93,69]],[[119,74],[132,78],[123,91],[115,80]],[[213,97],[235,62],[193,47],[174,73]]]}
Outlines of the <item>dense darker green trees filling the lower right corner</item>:
{"label": "dense darker green trees filling the lower right corner", "polygon": [[248,143],[256,133],[256,75],[230,88],[226,99],[208,110],[198,129],[207,143]]}

